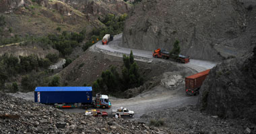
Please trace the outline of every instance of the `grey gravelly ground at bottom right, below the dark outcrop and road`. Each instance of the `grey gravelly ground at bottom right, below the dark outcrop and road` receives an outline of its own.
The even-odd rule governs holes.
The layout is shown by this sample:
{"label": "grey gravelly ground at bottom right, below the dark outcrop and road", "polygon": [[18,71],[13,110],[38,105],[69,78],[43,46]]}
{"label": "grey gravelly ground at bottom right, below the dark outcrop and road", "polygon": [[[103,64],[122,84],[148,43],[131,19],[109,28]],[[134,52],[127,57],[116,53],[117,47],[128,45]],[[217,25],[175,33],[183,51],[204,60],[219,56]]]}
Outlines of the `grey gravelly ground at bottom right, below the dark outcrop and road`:
{"label": "grey gravelly ground at bottom right, below the dark outcrop and road", "polygon": [[193,106],[162,109],[144,114],[139,122],[164,121],[160,128],[172,133],[256,133],[256,125],[244,119],[220,119],[218,116],[200,113]]}

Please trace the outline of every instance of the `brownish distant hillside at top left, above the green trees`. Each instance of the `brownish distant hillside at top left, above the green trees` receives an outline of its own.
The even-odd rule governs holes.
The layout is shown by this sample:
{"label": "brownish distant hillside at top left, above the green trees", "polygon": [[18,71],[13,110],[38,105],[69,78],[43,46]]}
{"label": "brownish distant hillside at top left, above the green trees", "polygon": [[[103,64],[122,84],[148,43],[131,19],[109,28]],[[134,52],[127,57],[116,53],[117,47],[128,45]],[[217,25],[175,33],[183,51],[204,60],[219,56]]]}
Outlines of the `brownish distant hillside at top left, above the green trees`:
{"label": "brownish distant hillside at top left, above the green trees", "polygon": [[[1,0],[0,15],[5,17],[6,27],[18,35],[45,35],[61,31],[81,31],[100,27],[98,17],[108,13],[127,13],[131,5],[116,1],[65,1],[65,0]],[[5,29],[7,30],[7,29]],[[12,36],[12,35],[5,35]]]}

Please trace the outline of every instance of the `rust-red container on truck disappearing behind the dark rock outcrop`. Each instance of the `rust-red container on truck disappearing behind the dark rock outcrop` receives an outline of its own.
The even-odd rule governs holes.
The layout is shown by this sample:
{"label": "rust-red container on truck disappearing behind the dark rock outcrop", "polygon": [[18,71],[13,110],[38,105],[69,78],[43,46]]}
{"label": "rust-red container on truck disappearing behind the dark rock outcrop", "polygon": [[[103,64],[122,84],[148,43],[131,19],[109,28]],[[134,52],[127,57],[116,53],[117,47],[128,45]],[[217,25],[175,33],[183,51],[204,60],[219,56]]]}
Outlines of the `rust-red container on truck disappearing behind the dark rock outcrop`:
{"label": "rust-red container on truck disappearing behind the dark rock outcrop", "polygon": [[205,80],[209,72],[210,72],[210,69],[205,70],[203,72],[199,72],[197,74],[193,74],[191,76],[187,76],[185,78],[186,93],[189,95],[199,94],[199,88],[203,84],[203,81]]}

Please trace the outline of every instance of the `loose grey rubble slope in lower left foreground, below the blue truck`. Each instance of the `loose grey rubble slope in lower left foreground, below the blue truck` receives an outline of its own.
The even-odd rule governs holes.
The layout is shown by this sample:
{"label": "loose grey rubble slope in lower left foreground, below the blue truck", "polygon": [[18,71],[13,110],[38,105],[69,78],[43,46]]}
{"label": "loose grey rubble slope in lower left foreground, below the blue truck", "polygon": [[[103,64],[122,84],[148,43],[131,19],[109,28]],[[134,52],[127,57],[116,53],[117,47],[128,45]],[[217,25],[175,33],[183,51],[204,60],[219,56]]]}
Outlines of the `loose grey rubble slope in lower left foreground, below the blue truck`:
{"label": "loose grey rubble slope in lower left foreground, below the blue truck", "polygon": [[111,117],[65,113],[0,92],[0,133],[170,133]]}

